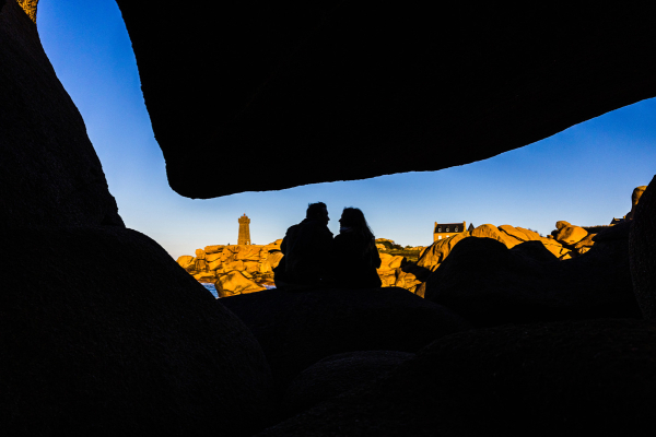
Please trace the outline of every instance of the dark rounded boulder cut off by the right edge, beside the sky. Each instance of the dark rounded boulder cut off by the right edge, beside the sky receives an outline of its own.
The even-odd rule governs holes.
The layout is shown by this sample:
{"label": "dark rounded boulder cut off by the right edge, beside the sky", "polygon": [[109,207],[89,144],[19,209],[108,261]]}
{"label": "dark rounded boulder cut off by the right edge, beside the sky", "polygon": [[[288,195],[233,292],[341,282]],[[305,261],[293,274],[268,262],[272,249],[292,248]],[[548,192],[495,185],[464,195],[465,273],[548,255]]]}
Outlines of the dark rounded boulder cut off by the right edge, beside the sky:
{"label": "dark rounded boulder cut off by the right edge, beside the sky", "polygon": [[633,288],[645,318],[656,319],[656,176],[635,208],[629,243]]}

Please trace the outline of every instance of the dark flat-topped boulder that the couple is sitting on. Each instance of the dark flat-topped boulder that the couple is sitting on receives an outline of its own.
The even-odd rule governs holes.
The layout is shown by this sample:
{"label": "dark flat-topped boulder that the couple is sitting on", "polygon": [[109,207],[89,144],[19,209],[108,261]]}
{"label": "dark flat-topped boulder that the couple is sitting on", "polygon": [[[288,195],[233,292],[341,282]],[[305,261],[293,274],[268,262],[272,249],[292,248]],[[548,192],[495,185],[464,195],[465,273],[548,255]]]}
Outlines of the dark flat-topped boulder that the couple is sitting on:
{"label": "dark flat-topped boulder that the couple is sitting on", "polygon": [[327,356],[352,351],[417,352],[469,324],[401,288],[260,293],[220,300],[257,338],[279,390]]}

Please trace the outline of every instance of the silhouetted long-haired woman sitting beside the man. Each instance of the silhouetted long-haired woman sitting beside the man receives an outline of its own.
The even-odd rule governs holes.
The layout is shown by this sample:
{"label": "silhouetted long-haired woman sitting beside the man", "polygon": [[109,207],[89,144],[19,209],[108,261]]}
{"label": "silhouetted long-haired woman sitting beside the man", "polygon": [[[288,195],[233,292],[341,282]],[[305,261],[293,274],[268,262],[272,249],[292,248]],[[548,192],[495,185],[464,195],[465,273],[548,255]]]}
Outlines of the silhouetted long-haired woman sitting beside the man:
{"label": "silhouetted long-haired woman sitting beside the man", "polygon": [[331,282],[343,288],[376,288],[382,285],[377,268],[380,257],[374,234],[358,208],[344,208],[333,239]]}

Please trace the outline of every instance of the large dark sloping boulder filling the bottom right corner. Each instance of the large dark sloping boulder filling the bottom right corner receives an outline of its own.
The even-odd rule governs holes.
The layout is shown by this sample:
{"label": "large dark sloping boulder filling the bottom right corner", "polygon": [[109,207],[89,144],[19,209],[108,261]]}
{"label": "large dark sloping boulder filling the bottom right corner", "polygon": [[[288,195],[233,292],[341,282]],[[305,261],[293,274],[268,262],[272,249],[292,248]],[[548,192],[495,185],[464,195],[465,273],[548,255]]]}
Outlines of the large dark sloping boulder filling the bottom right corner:
{"label": "large dark sloping boulder filling the bottom right corner", "polygon": [[467,331],[258,436],[644,435],[655,361],[643,320]]}

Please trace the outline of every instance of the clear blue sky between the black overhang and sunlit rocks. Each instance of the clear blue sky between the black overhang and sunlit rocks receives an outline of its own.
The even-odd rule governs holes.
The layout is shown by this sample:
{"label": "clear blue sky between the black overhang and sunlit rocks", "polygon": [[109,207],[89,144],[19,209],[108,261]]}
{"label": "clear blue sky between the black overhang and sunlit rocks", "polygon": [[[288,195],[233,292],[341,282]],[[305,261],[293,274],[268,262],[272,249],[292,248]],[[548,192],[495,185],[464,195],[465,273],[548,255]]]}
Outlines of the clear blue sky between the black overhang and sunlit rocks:
{"label": "clear blue sky between the black overhang and sunlit rocks", "polygon": [[[633,188],[647,185],[656,173],[656,101],[647,99],[465,166],[186,199],[166,181],[116,2],[42,0],[37,25],[59,80],[84,118],[126,225],[174,258],[235,244],[244,213],[251,218],[255,244],[282,238],[315,201],[328,204],[333,233],[341,210],[358,206],[376,237],[403,246],[430,245],[436,221],[511,224],[542,234],[559,220],[608,224],[629,212]],[[274,175],[270,168],[258,170]]]}

